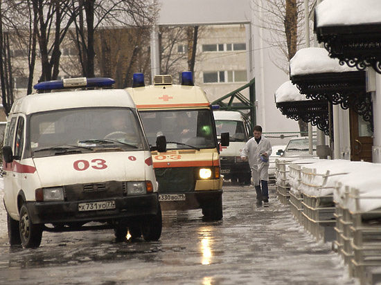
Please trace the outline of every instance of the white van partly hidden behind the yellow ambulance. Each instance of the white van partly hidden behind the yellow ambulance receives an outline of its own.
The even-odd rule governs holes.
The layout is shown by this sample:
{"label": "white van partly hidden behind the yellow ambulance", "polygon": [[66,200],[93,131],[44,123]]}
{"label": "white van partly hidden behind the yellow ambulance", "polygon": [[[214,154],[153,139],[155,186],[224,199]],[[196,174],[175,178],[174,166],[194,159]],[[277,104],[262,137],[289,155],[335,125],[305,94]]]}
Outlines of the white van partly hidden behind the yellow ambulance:
{"label": "white van partly hidden behind the yellow ambulance", "polygon": [[249,163],[241,159],[241,151],[249,140],[249,121],[238,111],[213,111],[217,138],[229,132],[229,147],[221,147],[221,174],[232,183],[250,185],[251,170]]}

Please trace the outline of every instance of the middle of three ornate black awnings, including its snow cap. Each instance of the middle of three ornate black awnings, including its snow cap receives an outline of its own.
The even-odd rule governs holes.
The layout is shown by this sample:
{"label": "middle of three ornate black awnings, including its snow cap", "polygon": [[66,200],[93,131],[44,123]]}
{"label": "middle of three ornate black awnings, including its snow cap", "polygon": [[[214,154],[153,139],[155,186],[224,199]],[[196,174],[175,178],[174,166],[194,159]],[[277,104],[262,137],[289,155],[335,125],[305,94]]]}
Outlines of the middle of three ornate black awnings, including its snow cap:
{"label": "middle of three ornate black awnings, including its snow cap", "polygon": [[[339,64],[324,48],[302,48],[290,60],[290,79],[306,98],[328,100],[353,109],[373,124],[371,95],[366,93],[365,71]],[[372,125],[373,129],[373,125]]]}

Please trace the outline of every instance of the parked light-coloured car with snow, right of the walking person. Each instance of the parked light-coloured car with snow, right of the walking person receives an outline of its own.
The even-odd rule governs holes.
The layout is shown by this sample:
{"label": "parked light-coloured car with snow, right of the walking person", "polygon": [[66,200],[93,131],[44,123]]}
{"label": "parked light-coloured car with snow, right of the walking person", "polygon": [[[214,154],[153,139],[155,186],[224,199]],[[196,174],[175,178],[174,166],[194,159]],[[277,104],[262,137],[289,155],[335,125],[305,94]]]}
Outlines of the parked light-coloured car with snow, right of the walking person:
{"label": "parked light-coloured car with snow, right of the walking person", "polygon": [[292,138],[287,143],[285,149],[278,149],[276,154],[281,157],[295,157],[295,156],[316,156],[316,138],[312,139],[312,154],[309,153],[308,137]]}

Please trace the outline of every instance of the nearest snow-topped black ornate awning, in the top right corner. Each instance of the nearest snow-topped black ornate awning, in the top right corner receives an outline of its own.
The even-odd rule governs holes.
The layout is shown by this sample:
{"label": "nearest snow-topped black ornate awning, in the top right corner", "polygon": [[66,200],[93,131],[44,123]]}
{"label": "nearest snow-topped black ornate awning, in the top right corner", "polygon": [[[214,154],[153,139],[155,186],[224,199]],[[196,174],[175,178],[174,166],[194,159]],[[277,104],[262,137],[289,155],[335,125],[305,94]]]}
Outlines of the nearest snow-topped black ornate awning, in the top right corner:
{"label": "nearest snow-topped black ornate awning, in the top right corner", "polygon": [[314,11],[314,33],[329,56],[381,73],[381,1],[324,0]]}

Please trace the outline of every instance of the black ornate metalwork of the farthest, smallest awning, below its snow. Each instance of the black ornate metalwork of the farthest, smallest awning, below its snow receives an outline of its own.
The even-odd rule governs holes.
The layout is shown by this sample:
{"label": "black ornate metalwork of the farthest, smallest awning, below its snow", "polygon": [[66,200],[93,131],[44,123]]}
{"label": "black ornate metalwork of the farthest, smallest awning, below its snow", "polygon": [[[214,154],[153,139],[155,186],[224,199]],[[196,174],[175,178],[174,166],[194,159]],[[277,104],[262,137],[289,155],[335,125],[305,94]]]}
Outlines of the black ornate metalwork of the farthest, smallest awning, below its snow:
{"label": "black ornate metalwork of the farthest, smallest awning, below its snow", "polygon": [[[310,122],[312,126],[324,131],[329,136],[329,116],[327,100],[305,100],[292,102],[278,102],[276,107],[287,118]],[[332,130],[331,130],[332,131]]]}

